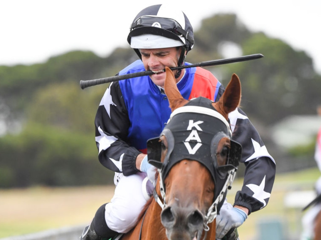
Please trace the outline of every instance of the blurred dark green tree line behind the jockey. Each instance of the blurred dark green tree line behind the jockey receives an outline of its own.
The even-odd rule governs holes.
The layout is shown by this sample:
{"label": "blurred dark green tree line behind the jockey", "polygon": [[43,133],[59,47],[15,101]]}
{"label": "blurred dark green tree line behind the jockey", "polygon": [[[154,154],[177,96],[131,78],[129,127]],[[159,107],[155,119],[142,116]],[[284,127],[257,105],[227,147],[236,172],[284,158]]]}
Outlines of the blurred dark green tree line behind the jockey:
{"label": "blurred dark green tree line behind the jockey", "polygon": [[[242,55],[265,56],[207,68],[224,85],[232,73],[240,77],[241,107],[252,122],[268,128],[289,115],[316,114],[321,76],[312,59],[281,39],[249,31],[235,14],[204,19],[187,62],[224,58],[231,46]],[[112,183],[113,172],[98,161],[94,133],[95,113],[108,84],[81,90],[79,81],[113,76],[137,59],[128,47],[105,58],[72,51],[44,63],[0,66],[0,187]],[[261,137],[278,151],[268,131]],[[311,157],[313,148],[309,143],[308,150],[286,154]]]}

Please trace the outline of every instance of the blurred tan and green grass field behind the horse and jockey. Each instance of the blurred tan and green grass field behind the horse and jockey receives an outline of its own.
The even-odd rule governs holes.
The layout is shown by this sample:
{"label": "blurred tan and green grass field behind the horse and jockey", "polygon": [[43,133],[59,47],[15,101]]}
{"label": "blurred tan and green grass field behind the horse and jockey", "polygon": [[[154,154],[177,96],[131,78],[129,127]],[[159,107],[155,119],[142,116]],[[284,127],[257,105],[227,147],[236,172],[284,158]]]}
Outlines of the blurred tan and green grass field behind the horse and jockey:
{"label": "blurred tan and green grass field behind the horse and jockey", "polygon": [[[268,205],[250,214],[239,228],[241,239],[256,240],[260,222],[270,220],[280,221],[286,235],[298,236],[302,212],[286,207],[284,199],[292,191],[312,190],[319,176],[317,168],[277,174]],[[234,181],[229,202],[241,185],[240,180]],[[111,199],[113,190],[114,186],[0,189],[0,238],[87,224],[98,207]]]}

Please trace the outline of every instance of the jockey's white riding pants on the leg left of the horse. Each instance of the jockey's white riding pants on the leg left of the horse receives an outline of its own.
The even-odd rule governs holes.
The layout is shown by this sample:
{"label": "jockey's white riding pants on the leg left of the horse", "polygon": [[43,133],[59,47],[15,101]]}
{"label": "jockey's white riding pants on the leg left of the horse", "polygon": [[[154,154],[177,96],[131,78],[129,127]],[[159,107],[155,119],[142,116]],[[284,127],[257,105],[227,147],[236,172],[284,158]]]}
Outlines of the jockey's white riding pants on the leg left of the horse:
{"label": "jockey's white riding pants on the leg left of the horse", "polygon": [[115,172],[115,193],[105,207],[108,228],[118,233],[126,233],[137,224],[138,216],[149,199],[146,186],[151,183],[147,183],[146,176],[144,172],[130,176]]}

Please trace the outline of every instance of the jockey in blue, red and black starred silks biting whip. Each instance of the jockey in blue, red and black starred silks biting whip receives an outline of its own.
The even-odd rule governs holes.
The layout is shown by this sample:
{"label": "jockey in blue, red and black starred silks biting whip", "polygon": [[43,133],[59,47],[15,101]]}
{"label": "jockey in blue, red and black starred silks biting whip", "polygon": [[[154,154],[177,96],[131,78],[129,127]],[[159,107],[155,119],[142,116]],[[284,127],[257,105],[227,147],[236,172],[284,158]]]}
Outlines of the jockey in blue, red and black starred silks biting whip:
{"label": "jockey in blue, red and black starred silks biting whip", "polygon": [[[182,11],[159,4],[138,13],[127,41],[140,60],[119,75],[190,64],[185,58],[194,46],[194,33]],[[217,101],[224,92],[223,85],[203,68],[173,72],[185,99],[203,96]],[[165,76],[160,72],[113,82],[102,97],[95,117],[98,158],[115,172],[116,188],[111,201],[103,204],[84,228],[80,240],[109,239],[136,225],[155,184],[156,169],[147,162],[146,142],[159,137],[171,113],[163,89]],[[229,121],[232,139],[242,145],[241,162],[246,171],[234,204],[225,202],[217,216],[218,238],[242,225],[251,212],[266,206],[275,177],[275,162],[246,114],[237,108],[230,113]],[[238,239],[235,232],[229,236]]]}

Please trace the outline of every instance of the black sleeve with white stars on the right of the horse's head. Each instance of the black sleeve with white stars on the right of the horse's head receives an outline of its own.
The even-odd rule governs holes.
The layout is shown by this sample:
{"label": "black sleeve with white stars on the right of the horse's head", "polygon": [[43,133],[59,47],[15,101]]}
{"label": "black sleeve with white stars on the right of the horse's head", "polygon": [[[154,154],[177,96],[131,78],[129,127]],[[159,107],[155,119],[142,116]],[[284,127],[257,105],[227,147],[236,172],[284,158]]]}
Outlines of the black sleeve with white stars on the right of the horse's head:
{"label": "black sleeve with white stars on the right of the horse's head", "polygon": [[268,203],[274,183],[275,162],[240,108],[229,114],[229,120],[232,139],[242,145],[241,162],[246,166],[243,187],[237,192],[234,205],[248,208],[249,213],[255,212]]}

